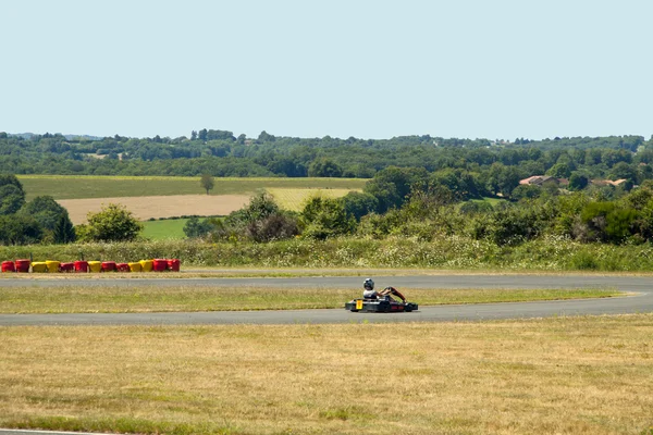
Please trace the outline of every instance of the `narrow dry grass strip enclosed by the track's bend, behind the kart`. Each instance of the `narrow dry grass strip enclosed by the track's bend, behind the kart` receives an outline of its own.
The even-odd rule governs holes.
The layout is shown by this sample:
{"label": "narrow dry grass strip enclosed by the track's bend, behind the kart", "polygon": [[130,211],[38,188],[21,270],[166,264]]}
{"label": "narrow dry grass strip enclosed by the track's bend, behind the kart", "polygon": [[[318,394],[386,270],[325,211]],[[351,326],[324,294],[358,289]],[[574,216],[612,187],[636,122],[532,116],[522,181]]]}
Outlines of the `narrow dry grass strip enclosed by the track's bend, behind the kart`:
{"label": "narrow dry grass strip enclosed by the track's bend, behind the kart", "polygon": [[[420,306],[606,298],[616,289],[410,289]],[[243,311],[343,308],[359,297],[352,288],[260,288],[215,286],[7,287],[3,313]]]}

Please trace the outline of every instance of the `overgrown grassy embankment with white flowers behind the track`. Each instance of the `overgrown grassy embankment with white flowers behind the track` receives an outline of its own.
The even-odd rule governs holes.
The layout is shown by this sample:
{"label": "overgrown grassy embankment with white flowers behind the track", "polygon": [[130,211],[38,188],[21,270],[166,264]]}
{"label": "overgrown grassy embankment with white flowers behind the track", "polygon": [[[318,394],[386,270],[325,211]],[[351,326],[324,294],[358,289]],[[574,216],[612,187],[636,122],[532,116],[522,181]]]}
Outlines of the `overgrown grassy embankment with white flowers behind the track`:
{"label": "overgrown grassy embankment with white flowers behind the track", "polygon": [[432,269],[466,271],[611,271],[650,272],[653,246],[579,244],[543,238],[518,246],[486,240],[439,237],[433,241],[389,237],[316,241],[295,238],[270,244],[160,240],[132,244],[2,246],[0,259],[35,261],[138,261],[178,258],[182,266]]}

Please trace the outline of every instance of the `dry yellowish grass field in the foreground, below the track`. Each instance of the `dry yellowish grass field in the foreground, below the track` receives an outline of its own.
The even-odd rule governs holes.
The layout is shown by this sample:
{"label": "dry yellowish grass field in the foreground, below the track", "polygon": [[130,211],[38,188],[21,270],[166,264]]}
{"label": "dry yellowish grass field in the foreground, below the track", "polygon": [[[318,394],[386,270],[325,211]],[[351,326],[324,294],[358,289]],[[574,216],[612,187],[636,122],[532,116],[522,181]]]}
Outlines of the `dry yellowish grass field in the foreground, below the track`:
{"label": "dry yellowish grass field in the foreground, below the track", "polygon": [[649,434],[653,314],[2,327],[0,425],[143,434]]}

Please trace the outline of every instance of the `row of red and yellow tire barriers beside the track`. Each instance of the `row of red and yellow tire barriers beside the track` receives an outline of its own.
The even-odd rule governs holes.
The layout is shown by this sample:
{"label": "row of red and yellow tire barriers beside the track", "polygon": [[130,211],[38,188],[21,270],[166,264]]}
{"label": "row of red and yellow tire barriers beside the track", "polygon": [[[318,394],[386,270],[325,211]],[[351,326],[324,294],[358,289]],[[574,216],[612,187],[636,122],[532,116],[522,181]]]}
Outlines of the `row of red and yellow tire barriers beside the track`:
{"label": "row of red and yellow tire barriers beside the track", "polygon": [[3,273],[108,273],[108,272],[180,272],[178,259],[140,260],[128,263],[115,261],[70,261],[56,260],[32,261],[15,260],[2,261]]}

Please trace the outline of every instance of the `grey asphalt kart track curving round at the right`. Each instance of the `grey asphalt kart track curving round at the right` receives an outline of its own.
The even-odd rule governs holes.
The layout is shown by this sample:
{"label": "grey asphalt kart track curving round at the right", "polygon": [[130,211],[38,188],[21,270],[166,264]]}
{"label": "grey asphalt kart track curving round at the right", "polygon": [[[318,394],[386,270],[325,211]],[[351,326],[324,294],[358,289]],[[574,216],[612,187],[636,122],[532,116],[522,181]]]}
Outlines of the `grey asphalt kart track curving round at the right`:
{"label": "grey asphalt kart track curving round at the right", "polygon": [[[411,313],[352,313],[342,310],[292,311],[212,311],[175,313],[118,314],[0,314],[0,326],[10,325],[182,325],[182,324],[318,324],[318,323],[387,323],[449,322],[491,319],[529,319],[562,315],[620,314],[653,312],[652,277],[601,275],[434,275],[372,276],[379,288],[392,285],[410,298],[410,288],[618,288],[632,296],[567,301],[507,302],[463,306],[420,307]],[[8,286],[257,286],[274,288],[315,287],[353,289],[357,295],[362,277],[297,278],[116,278],[58,279],[3,278],[0,291]],[[411,300],[412,301],[412,300]],[[419,300],[414,300],[419,303]],[[343,300],[343,306],[346,301]]]}

